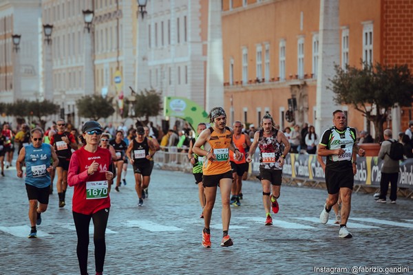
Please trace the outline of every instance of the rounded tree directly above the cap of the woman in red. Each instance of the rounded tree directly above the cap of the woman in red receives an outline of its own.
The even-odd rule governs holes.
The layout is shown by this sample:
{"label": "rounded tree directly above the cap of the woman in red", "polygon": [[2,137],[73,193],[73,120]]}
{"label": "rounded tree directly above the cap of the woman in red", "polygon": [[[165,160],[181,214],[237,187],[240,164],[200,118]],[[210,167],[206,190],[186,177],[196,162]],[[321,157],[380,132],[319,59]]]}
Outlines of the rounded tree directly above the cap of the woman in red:
{"label": "rounded tree directly above the cap of the woman in red", "polygon": [[83,96],[76,100],[78,114],[91,120],[108,118],[115,112],[112,104],[113,97],[103,98],[100,95]]}

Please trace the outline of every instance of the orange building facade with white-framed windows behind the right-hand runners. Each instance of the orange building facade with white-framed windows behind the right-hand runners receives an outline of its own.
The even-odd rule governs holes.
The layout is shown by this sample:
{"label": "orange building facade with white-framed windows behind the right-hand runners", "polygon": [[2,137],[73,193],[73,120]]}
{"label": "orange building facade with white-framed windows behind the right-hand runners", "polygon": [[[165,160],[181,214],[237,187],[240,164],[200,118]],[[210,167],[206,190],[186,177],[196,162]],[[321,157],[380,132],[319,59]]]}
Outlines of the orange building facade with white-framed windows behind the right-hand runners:
{"label": "orange building facade with white-framed windows behind the right-hand runners", "polygon": [[[405,4],[395,4],[399,2]],[[397,10],[401,8],[404,27],[398,33],[399,29],[389,23],[400,21]],[[408,30],[412,32],[412,24],[409,27],[407,22],[407,14],[412,11],[410,0],[339,1],[339,65],[360,66],[361,61],[366,61],[407,63],[412,68],[412,54],[409,56],[405,47],[396,46],[401,37],[405,43],[412,40],[406,35]],[[282,129],[292,123],[315,124],[320,74],[319,19],[319,0],[222,2],[224,96],[226,109],[231,109],[231,120],[260,124],[260,118],[268,112]],[[289,109],[295,120],[290,120]],[[337,105],[337,109],[346,111],[348,123],[359,131],[374,131],[352,107]],[[403,123],[405,120],[408,119],[402,119]]]}

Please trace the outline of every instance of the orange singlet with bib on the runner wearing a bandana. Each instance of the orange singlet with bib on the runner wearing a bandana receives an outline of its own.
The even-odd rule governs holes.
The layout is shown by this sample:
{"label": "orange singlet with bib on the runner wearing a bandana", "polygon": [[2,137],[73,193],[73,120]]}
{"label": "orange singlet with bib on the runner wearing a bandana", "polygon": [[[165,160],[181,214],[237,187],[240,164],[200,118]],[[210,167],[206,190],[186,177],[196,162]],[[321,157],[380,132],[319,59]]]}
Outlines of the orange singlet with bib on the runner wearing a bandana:
{"label": "orange singlet with bib on the runner wearing a bandana", "polygon": [[217,133],[212,127],[209,127],[209,131],[211,131],[211,138],[208,143],[217,159],[213,162],[206,160],[202,173],[204,175],[220,175],[231,171],[231,164],[229,163],[231,131],[227,126],[225,127],[224,133]]}

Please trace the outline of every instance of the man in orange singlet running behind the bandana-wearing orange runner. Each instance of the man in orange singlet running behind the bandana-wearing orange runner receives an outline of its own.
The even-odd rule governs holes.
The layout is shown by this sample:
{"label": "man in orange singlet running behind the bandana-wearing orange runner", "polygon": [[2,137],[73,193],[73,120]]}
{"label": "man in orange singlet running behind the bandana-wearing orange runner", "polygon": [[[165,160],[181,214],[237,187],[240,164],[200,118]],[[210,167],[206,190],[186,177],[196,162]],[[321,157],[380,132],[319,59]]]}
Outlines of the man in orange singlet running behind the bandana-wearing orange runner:
{"label": "man in orange singlet running behind the bandana-wearing orange runner", "polygon": [[232,197],[229,201],[233,206],[241,206],[241,188],[242,188],[242,177],[244,173],[248,173],[248,163],[246,159],[246,149],[251,146],[251,140],[246,133],[242,133],[242,122],[235,121],[233,124],[234,135],[233,142],[237,148],[240,149],[242,153],[242,159],[236,160],[235,154],[231,151],[229,157],[231,160],[231,169],[233,172],[233,186],[232,186]]}

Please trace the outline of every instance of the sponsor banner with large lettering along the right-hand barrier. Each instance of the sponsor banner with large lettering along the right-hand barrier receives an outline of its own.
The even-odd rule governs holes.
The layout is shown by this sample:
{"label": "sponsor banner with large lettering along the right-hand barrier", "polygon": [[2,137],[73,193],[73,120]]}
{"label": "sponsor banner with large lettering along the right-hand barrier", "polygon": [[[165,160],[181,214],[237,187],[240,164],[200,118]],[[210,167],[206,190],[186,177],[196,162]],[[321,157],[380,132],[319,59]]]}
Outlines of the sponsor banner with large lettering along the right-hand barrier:
{"label": "sponsor banner with large lettering along the right-hand barrier", "polygon": [[[259,154],[256,153],[252,165],[252,173],[255,175],[260,173],[259,159]],[[380,187],[382,166],[383,159],[379,157],[357,157],[357,173],[354,175],[354,184]],[[292,177],[293,179],[325,180],[324,170],[317,162],[317,155],[286,155],[282,173],[284,177]],[[397,186],[413,188],[413,159],[401,162]]]}

